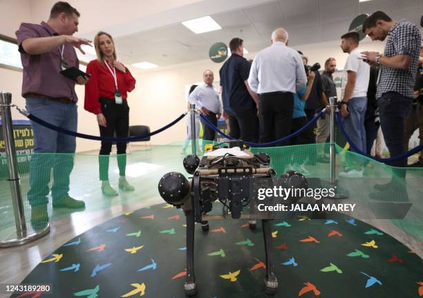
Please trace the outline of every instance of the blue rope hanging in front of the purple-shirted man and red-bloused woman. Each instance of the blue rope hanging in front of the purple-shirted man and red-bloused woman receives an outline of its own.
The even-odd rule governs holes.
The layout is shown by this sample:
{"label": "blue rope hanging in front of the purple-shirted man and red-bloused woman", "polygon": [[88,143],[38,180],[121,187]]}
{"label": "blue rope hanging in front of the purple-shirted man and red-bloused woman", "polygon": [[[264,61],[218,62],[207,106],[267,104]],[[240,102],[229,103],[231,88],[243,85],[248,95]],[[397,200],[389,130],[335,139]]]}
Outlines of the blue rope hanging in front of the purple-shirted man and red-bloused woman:
{"label": "blue rope hanging in front of the purple-shirted man and red-bloused woman", "polygon": [[158,129],[158,130],[153,131],[151,133],[146,133],[144,136],[133,136],[133,137],[129,137],[129,138],[111,138],[111,137],[98,137],[98,136],[86,135],[85,133],[77,133],[76,131],[69,131],[68,129],[62,129],[62,127],[57,127],[53,124],[50,124],[50,123],[48,123],[44,120],[41,120],[40,118],[38,118],[37,116],[32,115],[32,114],[23,113],[23,115],[26,115],[26,117],[28,117],[30,120],[37,122],[38,124],[40,124],[44,127],[47,127],[49,129],[53,129],[54,131],[58,131],[59,133],[66,133],[69,136],[75,136],[77,138],[84,138],[84,139],[88,139],[88,140],[99,140],[99,141],[104,141],[104,142],[132,142],[132,141],[136,141],[136,140],[142,140],[142,139],[148,138],[150,136],[154,136],[158,133],[161,133],[162,131],[164,131],[166,129],[169,129],[169,127],[172,127],[173,125],[178,123],[182,118],[184,118],[185,115],[187,115],[187,113],[183,113],[178,118],[176,118],[175,120],[173,120],[171,123],[167,124],[166,126],[162,127],[161,129]]}

